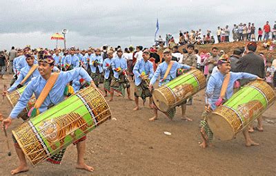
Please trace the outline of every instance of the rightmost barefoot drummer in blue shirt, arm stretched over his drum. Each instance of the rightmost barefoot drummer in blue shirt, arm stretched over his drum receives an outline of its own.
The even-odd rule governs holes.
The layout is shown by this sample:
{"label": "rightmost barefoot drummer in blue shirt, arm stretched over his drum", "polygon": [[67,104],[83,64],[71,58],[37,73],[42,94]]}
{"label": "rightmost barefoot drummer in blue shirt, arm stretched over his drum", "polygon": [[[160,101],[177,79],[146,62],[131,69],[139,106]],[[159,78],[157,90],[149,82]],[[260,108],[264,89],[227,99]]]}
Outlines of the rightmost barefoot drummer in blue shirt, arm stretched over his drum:
{"label": "rightmost barefoot drummer in blue shirt, arm stretched over his drum", "polygon": [[[255,76],[253,74],[247,74],[243,72],[230,72],[230,61],[227,55],[221,56],[221,58],[219,58],[219,61],[217,62],[217,67],[219,69],[219,72],[215,72],[210,76],[210,79],[208,80],[208,84],[206,87],[206,105],[205,111],[202,114],[202,118],[204,118],[204,120],[201,120],[200,122],[200,133],[201,139],[203,140],[200,146],[202,148],[206,148],[208,144],[211,145],[211,142],[213,140],[213,132],[210,130],[208,123],[206,122],[208,114],[211,111],[214,111],[217,107],[219,107],[224,102],[224,98],[228,100],[231,96],[233,96],[235,81],[240,79],[263,80],[262,78],[259,78],[258,76]],[[226,78],[226,74],[230,74],[230,79],[228,80],[227,87],[222,87],[224,79]],[[225,97],[221,97],[222,89],[226,90]],[[244,138],[246,140],[246,146],[259,145],[253,140],[251,140],[250,135],[248,133],[248,128],[244,129],[243,133]]]}

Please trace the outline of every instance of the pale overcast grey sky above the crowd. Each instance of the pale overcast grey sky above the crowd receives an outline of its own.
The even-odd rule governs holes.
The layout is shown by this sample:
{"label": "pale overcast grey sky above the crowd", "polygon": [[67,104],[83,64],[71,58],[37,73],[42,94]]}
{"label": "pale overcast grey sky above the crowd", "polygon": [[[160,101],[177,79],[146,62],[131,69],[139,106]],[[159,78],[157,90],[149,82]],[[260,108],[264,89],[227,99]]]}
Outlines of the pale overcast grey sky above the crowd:
{"label": "pale overcast grey sky above the crowd", "polygon": [[[66,28],[67,47],[100,47],[103,44],[128,47],[153,44],[156,19],[163,38],[171,33],[210,29],[234,23],[276,21],[276,0],[258,1],[201,0],[1,0],[0,50],[14,45],[50,47],[50,36]],[[63,47],[63,41],[59,41]]]}

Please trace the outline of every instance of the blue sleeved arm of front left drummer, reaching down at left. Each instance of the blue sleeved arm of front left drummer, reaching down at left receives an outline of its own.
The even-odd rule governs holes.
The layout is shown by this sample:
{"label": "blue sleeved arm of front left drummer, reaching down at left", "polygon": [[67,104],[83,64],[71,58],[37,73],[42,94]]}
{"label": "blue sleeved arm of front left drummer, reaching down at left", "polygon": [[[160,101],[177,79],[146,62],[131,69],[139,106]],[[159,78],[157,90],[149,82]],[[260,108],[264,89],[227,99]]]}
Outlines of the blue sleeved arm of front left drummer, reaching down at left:
{"label": "blue sleeved arm of front left drummer, reaching down at left", "polygon": [[32,98],[32,94],[34,93],[34,88],[32,84],[33,82],[31,80],[30,83],[28,83],[26,89],[23,91],[23,94],[19,98],[17,104],[12,109],[12,112],[10,113],[10,118],[17,118],[17,115],[19,115],[19,113],[21,113],[21,111],[26,108],[28,101],[30,100],[30,98]]}

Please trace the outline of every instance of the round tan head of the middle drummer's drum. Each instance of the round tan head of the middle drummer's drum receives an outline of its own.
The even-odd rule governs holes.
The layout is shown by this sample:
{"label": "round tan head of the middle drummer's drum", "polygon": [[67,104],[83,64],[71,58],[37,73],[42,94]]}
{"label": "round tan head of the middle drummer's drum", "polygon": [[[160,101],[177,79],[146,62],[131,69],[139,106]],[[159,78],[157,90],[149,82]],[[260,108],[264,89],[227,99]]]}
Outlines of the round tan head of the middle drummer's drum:
{"label": "round tan head of the middle drummer's drum", "polygon": [[153,101],[155,102],[155,106],[157,106],[158,109],[160,109],[161,111],[168,111],[169,106],[168,106],[168,100],[166,99],[166,96],[159,91],[158,89],[155,89],[152,92],[152,98]]}

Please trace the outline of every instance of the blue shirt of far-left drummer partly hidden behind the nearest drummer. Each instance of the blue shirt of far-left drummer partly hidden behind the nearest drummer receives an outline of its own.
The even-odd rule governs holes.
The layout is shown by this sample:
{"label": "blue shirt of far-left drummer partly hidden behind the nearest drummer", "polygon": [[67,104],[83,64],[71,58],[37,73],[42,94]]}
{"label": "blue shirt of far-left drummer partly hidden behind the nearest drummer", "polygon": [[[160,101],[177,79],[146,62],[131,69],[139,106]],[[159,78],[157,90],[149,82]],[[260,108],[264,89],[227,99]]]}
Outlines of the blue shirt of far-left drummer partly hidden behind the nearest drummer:
{"label": "blue shirt of far-left drummer partly hidden behind the nearest drummer", "polygon": [[[26,77],[26,75],[28,74],[28,72],[30,71],[30,66],[27,65],[26,67],[23,67],[23,69],[21,69],[21,72],[17,78],[17,80],[14,82],[14,84],[12,85],[12,87],[10,87],[10,89],[8,89],[8,92],[14,91],[15,89],[17,89],[17,85],[19,85],[19,83],[21,83],[21,81]],[[36,69],[32,75],[25,81],[25,83],[23,85],[27,85],[30,80],[34,77],[39,76],[39,71]]]}

